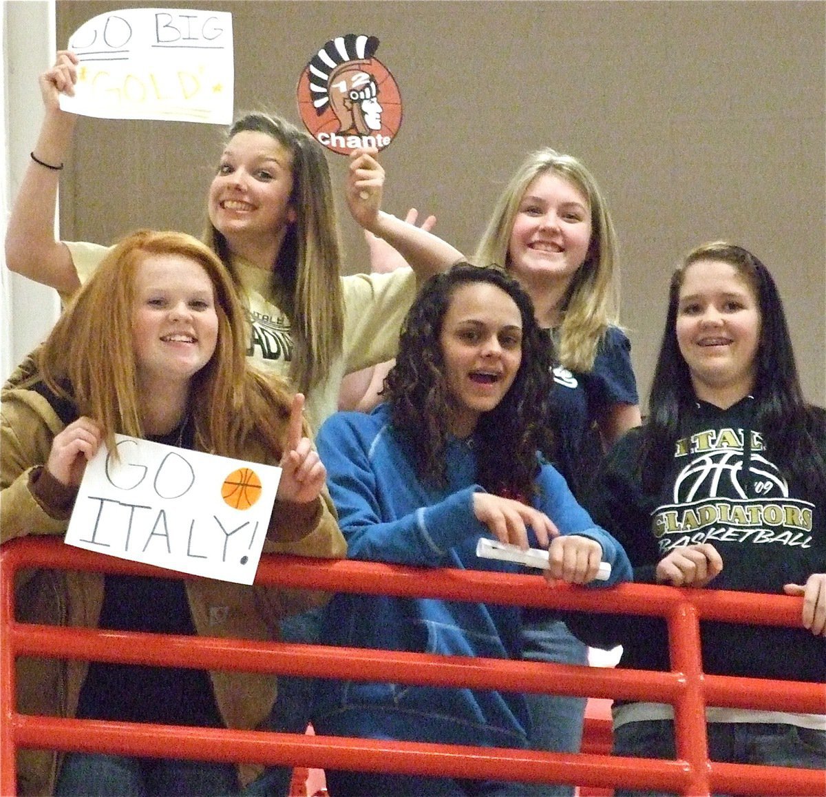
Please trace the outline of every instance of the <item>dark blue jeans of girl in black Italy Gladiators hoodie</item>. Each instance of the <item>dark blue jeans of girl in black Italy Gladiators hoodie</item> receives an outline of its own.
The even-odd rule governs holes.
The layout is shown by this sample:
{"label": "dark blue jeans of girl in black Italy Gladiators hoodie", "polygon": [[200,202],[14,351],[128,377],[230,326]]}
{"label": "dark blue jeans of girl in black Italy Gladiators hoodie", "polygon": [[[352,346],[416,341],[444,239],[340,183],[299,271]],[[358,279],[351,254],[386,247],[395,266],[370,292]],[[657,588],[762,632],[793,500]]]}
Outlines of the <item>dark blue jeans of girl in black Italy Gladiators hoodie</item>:
{"label": "dark blue jeans of girl in black Italy Gladiators hoodie", "polygon": [[[781,723],[708,723],[709,756],[730,764],[826,767],[826,731]],[[676,760],[674,723],[648,719],[615,728],[614,755]],[[661,791],[615,790],[615,797],[672,797]],[[714,795],[728,797],[728,795]]]}

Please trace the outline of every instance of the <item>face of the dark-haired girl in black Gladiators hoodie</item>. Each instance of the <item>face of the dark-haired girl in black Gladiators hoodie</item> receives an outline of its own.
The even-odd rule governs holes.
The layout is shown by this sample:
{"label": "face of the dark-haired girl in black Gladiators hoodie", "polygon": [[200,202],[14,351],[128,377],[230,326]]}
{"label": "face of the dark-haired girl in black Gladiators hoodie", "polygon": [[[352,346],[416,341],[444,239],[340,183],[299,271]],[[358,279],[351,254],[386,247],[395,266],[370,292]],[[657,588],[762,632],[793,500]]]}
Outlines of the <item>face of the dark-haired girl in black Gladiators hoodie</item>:
{"label": "face of the dark-haired girl in black Gladiators hoodie", "polygon": [[686,268],[676,340],[697,398],[726,408],[754,385],[761,318],[752,284],[722,260]]}

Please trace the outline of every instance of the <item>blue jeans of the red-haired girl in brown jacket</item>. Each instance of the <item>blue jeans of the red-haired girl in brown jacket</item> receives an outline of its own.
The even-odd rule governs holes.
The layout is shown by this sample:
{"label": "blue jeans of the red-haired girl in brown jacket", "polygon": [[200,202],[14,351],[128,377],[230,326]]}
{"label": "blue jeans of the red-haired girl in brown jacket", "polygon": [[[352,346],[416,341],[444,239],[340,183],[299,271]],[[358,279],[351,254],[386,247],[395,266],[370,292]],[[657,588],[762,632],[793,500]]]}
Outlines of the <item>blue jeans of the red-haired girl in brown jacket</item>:
{"label": "blue jeans of the red-haired girl in brown jacket", "polygon": [[232,764],[70,752],[55,797],[237,797]]}

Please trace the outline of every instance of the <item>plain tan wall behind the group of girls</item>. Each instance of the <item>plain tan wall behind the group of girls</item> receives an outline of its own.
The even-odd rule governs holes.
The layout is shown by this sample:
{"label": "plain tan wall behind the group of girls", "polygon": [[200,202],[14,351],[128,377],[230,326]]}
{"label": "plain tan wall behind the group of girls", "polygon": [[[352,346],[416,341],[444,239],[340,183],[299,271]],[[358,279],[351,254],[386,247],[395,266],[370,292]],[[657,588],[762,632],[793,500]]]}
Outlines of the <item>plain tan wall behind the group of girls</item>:
{"label": "plain tan wall behind the group of girls", "polygon": [[[145,2],[58,2],[58,41]],[[150,4],[151,5],[151,4]],[[826,403],[826,3],[174,2],[233,14],[235,109],[299,122],[301,69],[344,33],[378,36],[404,121],[382,155],[385,207],[434,212],[472,252],[525,153],[577,155],[609,198],[623,322],[647,393],[672,265],[728,238],[775,274],[807,396]],[[63,183],[62,232],[199,232],[221,130],[84,119]],[[346,160],[330,154],[342,186]],[[79,176],[78,176],[79,175]],[[344,203],[339,203],[344,210]],[[341,216],[345,269],[367,267]]]}

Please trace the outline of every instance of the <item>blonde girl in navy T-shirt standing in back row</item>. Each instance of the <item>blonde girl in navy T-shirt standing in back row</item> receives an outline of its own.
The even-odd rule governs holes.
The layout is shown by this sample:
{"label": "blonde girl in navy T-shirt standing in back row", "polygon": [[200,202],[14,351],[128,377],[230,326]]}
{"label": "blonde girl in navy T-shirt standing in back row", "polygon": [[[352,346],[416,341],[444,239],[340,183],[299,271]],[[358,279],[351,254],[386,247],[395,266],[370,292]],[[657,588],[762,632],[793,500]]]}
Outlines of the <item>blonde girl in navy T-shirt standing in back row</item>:
{"label": "blonde girl in navy T-shirt standing in back row", "polygon": [[[618,326],[617,241],[596,179],[572,155],[528,155],[502,191],[477,246],[480,265],[498,263],[520,281],[539,326],[557,348],[551,418],[553,463],[573,493],[640,413],[630,343]],[[586,646],[561,620],[529,611],[523,657],[585,665]],[[532,746],[577,752],[585,699],[527,695]],[[531,795],[572,795],[569,786],[529,786]]]}

